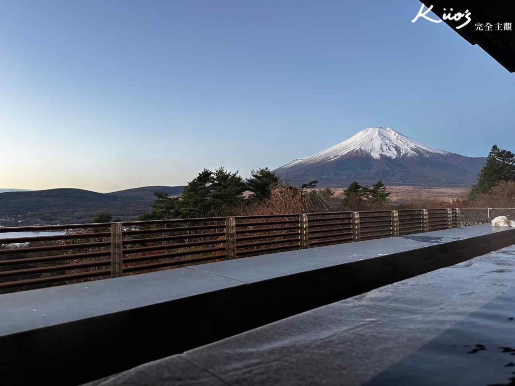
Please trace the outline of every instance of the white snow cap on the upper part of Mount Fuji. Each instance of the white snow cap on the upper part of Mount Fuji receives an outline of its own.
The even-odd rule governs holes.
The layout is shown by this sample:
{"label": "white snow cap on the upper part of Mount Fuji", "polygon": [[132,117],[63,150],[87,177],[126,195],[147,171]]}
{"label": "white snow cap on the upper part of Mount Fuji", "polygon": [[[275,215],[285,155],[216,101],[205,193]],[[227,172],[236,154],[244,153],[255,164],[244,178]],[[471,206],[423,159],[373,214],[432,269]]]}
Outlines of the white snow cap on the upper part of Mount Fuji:
{"label": "white snow cap on the upper part of Mount Fuji", "polygon": [[379,160],[382,155],[393,159],[403,155],[427,156],[429,153],[450,154],[447,151],[417,142],[388,127],[370,127],[360,131],[338,145],[332,146],[311,157],[307,157],[300,162],[291,162],[283,167],[290,167],[299,163],[312,164],[329,162],[338,159],[342,155],[354,152],[368,154],[376,160]]}

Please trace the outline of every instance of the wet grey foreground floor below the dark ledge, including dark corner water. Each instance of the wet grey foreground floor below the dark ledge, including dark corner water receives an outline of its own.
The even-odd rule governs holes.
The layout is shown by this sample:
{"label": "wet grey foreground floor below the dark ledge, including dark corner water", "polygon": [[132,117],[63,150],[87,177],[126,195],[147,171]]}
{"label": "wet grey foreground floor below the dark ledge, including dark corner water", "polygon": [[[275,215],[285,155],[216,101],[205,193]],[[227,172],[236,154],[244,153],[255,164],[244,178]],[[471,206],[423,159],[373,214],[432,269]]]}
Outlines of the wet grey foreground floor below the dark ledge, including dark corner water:
{"label": "wet grey foreground floor below the dark ledge, including dark corner water", "polygon": [[514,305],[512,245],[88,386],[509,385]]}

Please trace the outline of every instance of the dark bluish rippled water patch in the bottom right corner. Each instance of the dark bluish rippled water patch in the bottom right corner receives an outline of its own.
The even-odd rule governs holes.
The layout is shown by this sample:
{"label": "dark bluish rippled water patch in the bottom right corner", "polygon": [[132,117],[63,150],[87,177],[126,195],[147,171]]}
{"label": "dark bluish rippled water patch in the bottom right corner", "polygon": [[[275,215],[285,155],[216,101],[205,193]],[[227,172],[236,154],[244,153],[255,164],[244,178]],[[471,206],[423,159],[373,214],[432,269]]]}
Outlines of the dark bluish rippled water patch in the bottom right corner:
{"label": "dark bluish rippled water patch in the bottom right corner", "polygon": [[367,384],[514,384],[515,323],[510,316],[515,314],[513,305],[515,290],[511,289]]}

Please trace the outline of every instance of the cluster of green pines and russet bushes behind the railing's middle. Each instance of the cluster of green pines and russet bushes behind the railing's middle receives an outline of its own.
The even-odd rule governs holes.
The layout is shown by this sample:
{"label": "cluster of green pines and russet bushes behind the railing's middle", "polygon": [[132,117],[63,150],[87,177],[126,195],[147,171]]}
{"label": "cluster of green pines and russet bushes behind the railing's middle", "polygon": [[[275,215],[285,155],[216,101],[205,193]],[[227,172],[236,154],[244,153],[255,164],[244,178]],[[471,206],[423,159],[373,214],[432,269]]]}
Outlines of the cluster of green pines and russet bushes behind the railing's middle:
{"label": "cluster of green pines and russet bushes behind the railing's middle", "polygon": [[353,182],[338,198],[329,188],[317,189],[317,183],[294,187],[268,168],[252,170],[245,180],[224,167],[204,169],[187,184],[182,196],[156,192],[151,212],[139,220],[367,210],[389,204],[390,192],[382,181],[371,187]]}

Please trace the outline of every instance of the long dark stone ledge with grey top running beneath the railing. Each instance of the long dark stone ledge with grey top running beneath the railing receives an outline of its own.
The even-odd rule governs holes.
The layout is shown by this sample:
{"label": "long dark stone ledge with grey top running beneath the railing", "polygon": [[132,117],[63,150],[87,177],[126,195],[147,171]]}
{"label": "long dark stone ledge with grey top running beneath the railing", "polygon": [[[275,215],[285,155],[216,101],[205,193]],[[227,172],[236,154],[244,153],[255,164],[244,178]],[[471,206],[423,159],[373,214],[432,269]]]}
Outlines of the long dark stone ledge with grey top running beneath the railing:
{"label": "long dark stone ledge with grey top running beneath the railing", "polygon": [[0,295],[0,374],[79,384],[513,243],[478,225]]}

